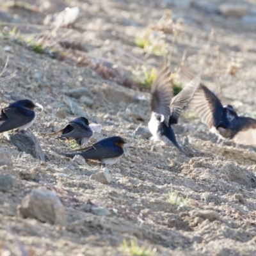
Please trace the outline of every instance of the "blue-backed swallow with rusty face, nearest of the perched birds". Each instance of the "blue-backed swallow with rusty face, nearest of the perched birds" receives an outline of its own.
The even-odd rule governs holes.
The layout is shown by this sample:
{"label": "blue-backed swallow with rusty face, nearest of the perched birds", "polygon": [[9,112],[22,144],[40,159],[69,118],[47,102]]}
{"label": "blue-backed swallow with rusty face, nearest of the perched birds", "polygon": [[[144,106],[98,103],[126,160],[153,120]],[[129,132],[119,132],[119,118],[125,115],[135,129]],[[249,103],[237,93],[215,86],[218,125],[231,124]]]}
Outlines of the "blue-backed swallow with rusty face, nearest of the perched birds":
{"label": "blue-backed swallow with rusty face, nearest of the perched birds", "polygon": [[[84,159],[99,159],[102,164],[115,164],[124,154],[124,144],[126,142],[119,136],[109,137],[93,144],[91,147],[81,148],[75,151],[81,153],[72,153],[63,155],[73,158],[76,155],[83,156]],[[86,151],[84,151],[86,150]]]}

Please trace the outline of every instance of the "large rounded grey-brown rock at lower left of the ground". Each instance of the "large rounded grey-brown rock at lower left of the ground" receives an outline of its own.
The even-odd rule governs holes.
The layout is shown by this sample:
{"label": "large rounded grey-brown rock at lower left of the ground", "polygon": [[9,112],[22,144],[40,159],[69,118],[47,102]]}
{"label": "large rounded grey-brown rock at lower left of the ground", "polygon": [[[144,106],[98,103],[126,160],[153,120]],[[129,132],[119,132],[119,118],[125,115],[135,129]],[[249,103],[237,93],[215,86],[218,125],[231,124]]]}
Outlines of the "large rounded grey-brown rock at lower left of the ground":
{"label": "large rounded grey-brown rock at lower left of the ground", "polygon": [[35,218],[50,224],[65,225],[65,207],[55,191],[37,188],[22,199],[17,212],[23,218]]}

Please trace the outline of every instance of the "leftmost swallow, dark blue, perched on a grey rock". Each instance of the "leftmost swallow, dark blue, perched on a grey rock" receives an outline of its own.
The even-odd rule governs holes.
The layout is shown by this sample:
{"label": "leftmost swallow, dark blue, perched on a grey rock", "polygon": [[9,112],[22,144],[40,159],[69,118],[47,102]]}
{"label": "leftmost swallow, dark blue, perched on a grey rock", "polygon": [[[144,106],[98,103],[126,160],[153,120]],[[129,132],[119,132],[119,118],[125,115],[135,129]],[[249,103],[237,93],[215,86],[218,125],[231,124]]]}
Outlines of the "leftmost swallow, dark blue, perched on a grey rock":
{"label": "leftmost swallow, dark blue, perched on a grey rock", "polygon": [[31,100],[17,100],[1,109],[0,122],[3,122],[0,124],[0,132],[28,129],[35,122],[36,107]]}

